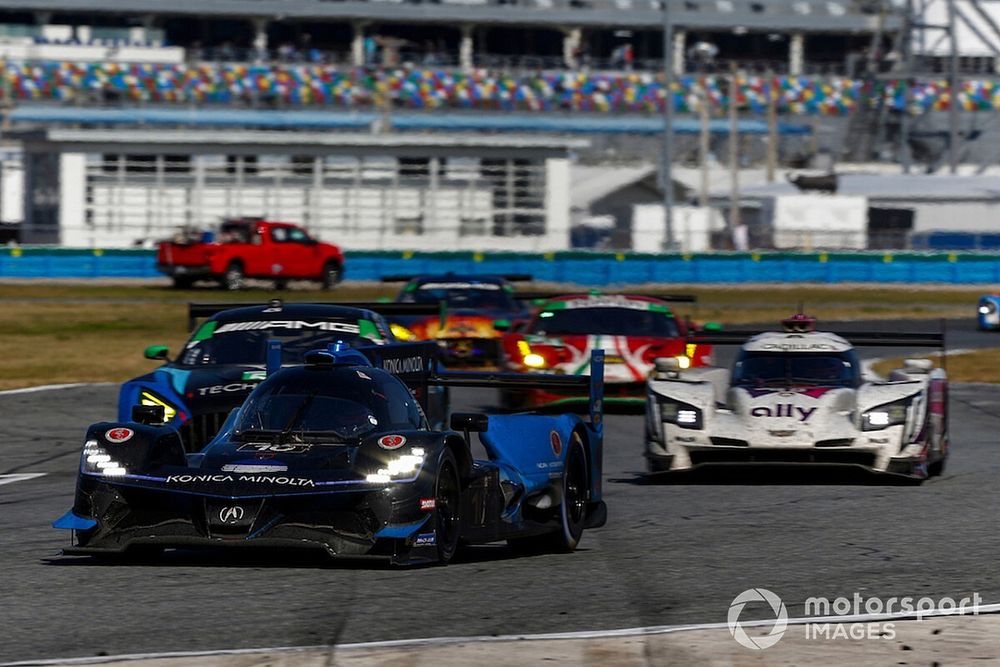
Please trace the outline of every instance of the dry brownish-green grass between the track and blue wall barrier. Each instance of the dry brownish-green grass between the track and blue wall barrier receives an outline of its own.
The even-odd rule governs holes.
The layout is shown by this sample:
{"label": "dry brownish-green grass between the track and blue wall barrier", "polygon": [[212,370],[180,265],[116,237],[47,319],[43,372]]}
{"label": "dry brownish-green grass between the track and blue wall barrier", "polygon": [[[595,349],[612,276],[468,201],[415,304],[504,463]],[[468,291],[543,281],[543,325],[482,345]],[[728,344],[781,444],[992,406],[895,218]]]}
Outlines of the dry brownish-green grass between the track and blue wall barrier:
{"label": "dry brownish-green grass between the track and blue wall barrier", "polygon": [[[176,351],[187,338],[189,301],[261,303],[274,297],[369,301],[394,296],[398,289],[399,285],[372,283],[344,285],[333,292],[261,289],[232,293],[150,284],[0,283],[0,389],[61,382],[120,382],[148,372],[157,362],[143,359],[146,346],[165,344]],[[654,289],[647,285],[632,291]],[[859,317],[971,317],[980,295],[979,290],[970,289],[857,286],[657,285],[655,291],[696,294],[697,307],[677,304],[677,312],[723,325],[777,323],[796,312],[800,302],[821,323]]]}

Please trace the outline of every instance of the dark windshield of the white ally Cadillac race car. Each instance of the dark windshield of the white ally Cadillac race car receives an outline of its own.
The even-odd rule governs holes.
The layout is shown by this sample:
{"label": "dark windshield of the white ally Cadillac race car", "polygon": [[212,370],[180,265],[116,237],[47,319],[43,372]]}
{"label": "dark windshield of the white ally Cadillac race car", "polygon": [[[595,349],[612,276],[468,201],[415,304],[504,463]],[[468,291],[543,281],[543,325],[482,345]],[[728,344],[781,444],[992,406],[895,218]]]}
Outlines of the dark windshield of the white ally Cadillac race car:
{"label": "dark windshield of the white ally Cadillac race car", "polygon": [[852,387],[859,381],[853,352],[786,354],[744,352],[733,368],[733,385],[744,387]]}

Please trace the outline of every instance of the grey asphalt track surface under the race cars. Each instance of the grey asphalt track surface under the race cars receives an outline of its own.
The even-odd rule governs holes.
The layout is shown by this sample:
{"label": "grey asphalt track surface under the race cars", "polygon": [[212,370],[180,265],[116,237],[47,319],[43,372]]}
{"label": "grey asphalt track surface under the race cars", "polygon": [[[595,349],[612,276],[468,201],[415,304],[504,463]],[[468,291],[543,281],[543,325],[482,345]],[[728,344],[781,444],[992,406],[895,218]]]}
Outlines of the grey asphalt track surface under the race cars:
{"label": "grey asphalt track surface under the race cars", "polygon": [[[997,343],[966,324],[950,345]],[[856,592],[1000,602],[1000,388],[953,385],[953,455],[923,486],[801,469],[648,484],[641,416],[610,415],[609,521],[576,553],[497,545],[417,569],[288,553],[58,557],[68,536],[49,522],[72,503],[86,425],[111,418],[115,398],[111,386],[0,395],[0,474],[45,473],[0,478],[0,662],[715,623],[752,587],[778,593],[791,616],[808,597]],[[456,407],[492,400],[482,391]]]}

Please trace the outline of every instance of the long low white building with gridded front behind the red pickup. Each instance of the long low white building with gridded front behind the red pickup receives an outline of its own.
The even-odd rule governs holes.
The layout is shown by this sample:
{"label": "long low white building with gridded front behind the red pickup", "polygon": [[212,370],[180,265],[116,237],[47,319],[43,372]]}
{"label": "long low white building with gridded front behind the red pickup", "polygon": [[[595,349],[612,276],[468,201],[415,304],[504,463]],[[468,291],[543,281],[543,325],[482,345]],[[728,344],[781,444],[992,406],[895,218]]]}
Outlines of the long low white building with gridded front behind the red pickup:
{"label": "long low white building with gridded front behind the red pickup", "polygon": [[115,247],[260,216],[347,249],[569,247],[581,140],[218,130],[16,135],[22,240]]}

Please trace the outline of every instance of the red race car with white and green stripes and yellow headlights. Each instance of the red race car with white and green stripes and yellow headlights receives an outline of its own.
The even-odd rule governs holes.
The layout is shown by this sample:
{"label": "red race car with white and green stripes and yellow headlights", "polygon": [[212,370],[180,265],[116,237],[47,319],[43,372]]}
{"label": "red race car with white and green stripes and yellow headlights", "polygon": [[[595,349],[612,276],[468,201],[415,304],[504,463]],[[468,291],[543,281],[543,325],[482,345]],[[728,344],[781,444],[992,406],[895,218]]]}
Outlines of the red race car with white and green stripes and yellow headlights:
{"label": "red race car with white and green stripes and yellow headlights", "polygon": [[[538,310],[503,338],[503,367],[517,373],[580,375],[589,372],[593,350],[606,353],[605,394],[609,402],[642,405],[653,362],[674,357],[684,367],[712,362],[710,345],[690,343],[694,324],[678,319],[669,301],[693,303],[689,295],[589,294],[540,295]],[[543,389],[501,393],[507,409],[542,406],[578,397]]]}

